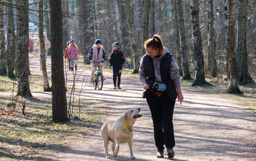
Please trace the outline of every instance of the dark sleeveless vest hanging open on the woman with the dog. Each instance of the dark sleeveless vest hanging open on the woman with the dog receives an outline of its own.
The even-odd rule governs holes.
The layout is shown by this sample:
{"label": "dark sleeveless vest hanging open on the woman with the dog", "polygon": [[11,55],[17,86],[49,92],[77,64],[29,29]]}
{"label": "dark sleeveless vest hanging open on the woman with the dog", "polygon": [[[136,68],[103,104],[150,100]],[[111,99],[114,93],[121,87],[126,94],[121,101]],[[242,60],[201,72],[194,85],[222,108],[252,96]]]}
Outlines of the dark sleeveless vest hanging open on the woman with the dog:
{"label": "dark sleeveless vest hanging open on the woman with the dog", "polygon": [[[167,52],[161,59],[160,72],[161,72],[162,83],[166,85],[166,92],[169,98],[171,99],[171,101],[174,102],[177,98],[177,90],[176,90],[175,84],[173,83],[173,80],[170,78],[171,62],[172,62],[172,54]],[[147,83],[151,87],[155,82],[155,68],[153,64],[153,59],[148,54],[145,54],[143,56],[143,66],[144,66],[144,71],[146,73],[146,76],[148,77]]]}

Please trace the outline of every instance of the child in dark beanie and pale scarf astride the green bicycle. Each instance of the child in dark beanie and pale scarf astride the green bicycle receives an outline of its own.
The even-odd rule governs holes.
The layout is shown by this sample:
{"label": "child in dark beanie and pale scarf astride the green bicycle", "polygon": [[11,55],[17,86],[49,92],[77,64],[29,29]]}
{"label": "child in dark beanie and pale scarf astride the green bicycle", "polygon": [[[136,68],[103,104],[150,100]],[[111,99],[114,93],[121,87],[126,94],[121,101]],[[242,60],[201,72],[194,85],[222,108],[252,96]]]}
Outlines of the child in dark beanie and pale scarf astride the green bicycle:
{"label": "child in dark beanie and pale scarf astride the green bicycle", "polygon": [[[94,73],[97,70],[98,64],[97,63],[93,63],[93,61],[101,61],[101,59],[105,60],[105,63],[107,63],[107,55],[104,52],[103,46],[101,45],[101,40],[97,39],[95,41],[95,44],[91,47],[89,53],[88,53],[88,61],[90,61],[91,63],[91,67],[92,67],[92,75],[91,75],[91,79],[90,79],[90,83],[92,83],[93,81],[93,77],[94,77]],[[102,63],[99,64],[100,67],[100,71],[101,74],[103,76],[103,80],[106,80],[106,78],[103,75],[103,66]]]}

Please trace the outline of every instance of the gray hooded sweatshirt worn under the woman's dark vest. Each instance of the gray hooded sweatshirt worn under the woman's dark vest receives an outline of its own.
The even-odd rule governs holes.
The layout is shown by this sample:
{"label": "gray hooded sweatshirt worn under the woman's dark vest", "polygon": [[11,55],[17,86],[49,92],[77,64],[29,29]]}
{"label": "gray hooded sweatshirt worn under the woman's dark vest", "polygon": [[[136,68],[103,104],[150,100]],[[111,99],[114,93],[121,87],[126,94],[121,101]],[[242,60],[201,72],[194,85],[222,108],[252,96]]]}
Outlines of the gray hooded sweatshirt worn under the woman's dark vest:
{"label": "gray hooded sweatshirt worn under the woman's dark vest", "polygon": [[[161,54],[161,56],[159,58],[152,58],[154,68],[155,68],[155,81],[156,81],[153,84],[153,86],[155,86],[155,84],[157,82],[162,83],[161,72],[160,72],[160,63],[161,63],[161,59],[167,52],[168,52],[168,49],[166,49],[164,47],[164,54]],[[144,71],[144,66],[143,66],[143,57],[141,58],[139,77],[140,77],[141,82],[146,81],[146,79],[147,79],[146,73]],[[176,63],[175,59],[173,58],[173,56],[172,56],[172,62],[171,62],[171,66],[170,66],[170,78],[173,80],[176,87],[181,86],[181,82],[180,82],[181,77],[179,74],[179,67],[177,66],[177,63]]]}

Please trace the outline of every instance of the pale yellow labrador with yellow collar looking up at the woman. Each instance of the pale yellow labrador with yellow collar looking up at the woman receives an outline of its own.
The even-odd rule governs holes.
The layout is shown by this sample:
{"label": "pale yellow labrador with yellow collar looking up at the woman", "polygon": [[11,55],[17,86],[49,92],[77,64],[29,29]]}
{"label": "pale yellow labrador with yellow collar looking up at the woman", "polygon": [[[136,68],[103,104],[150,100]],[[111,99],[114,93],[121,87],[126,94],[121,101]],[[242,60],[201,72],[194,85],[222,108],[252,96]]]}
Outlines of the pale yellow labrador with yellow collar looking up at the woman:
{"label": "pale yellow labrador with yellow collar looking up at the woman", "polygon": [[118,120],[108,121],[102,125],[101,137],[107,159],[111,159],[107,150],[109,141],[112,142],[111,148],[114,157],[118,156],[119,144],[128,143],[131,158],[135,159],[132,152],[133,125],[137,118],[142,116],[142,114],[139,114],[140,111],[140,108],[129,109]]}

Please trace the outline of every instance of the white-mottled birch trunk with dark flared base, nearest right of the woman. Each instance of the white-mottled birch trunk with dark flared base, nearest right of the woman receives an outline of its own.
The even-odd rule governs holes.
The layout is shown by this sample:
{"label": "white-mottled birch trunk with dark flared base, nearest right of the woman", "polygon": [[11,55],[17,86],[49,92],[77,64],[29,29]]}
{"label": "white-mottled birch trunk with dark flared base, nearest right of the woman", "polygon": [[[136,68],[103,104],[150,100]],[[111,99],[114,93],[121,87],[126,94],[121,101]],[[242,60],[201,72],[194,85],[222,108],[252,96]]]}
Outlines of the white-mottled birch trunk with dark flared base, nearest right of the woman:
{"label": "white-mottled birch trunk with dark flared base, nearest right of the woman", "polygon": [[206,84],[204,77],[204,61],[201,30],[199,25],[199,7],[198,0],[190,0],[191,8],[191,27],[193,35],[194,59],[195,59],[195,81],[192,86],[201,86]]}

